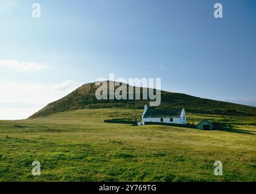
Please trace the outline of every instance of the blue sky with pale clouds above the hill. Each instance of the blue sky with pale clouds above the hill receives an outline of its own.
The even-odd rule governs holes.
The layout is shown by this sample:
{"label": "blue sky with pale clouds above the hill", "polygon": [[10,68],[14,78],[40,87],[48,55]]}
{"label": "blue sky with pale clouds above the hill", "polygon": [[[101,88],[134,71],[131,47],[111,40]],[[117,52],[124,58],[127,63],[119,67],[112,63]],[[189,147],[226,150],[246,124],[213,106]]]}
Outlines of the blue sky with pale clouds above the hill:
{"label": "blue sky with pale clouds above the hill", "polygon": [[256,106],[255,19],[254,0],[0,0],[0,119],[25,119],[109,73]]}

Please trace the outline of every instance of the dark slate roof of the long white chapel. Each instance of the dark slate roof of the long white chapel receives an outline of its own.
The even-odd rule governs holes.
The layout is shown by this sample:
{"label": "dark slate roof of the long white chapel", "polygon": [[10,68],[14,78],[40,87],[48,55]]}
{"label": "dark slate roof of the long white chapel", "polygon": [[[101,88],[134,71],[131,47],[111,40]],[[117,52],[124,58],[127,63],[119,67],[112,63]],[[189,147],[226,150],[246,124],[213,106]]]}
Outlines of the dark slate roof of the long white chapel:
{"label": "dark slate roof of the long white chapel", "polygon": [[143,118],[180,118],[182,110],[147,109]]}

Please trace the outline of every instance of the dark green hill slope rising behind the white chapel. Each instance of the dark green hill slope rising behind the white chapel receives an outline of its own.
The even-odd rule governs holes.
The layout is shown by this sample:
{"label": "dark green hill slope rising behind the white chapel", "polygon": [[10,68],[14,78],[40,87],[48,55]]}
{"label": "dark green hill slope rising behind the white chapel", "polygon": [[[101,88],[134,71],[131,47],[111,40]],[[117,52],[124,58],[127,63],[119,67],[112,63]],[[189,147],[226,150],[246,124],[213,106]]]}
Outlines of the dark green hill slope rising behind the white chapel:
{"label": "dark green hill slope rising behind the white chapel", "polygon": [[[117,87],[115,87],[116,90]],[[36,112],[30,118],[52,115],[76,109],[100,109],[111,107],[123,107],[129,109],[141,109],[149,100],[97,100],[95,92],[98,86],[95,83],[84,84],[69,95],[58,101],[52,102]],[[135,87],[133,87],[135,89]],[[138,88],[137,88],[138,89]],[[135,91],[135,90],[134,90]],[[142,88],[140,88],[142,96]],[[128,93],[128,92],[127,92]],[[161,91],[161,105],[155,109],[181,109],[185,108],[189,113],[207,113],[216,115],[256,116],[256,107],[233,104],[229,102],[214,101],[182,93]]]}

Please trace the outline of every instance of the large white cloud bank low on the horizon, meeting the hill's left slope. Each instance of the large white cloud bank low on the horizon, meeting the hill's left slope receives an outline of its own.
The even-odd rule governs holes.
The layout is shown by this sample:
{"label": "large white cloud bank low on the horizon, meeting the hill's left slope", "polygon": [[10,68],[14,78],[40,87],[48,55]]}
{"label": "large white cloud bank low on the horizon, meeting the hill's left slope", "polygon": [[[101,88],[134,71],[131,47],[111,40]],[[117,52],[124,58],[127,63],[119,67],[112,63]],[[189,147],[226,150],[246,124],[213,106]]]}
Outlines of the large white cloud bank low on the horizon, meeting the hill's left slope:
{"label": "large white cloud bank low on the horizon, meeting the hill's left slope", "polygon": [[0,83],[0,119],[25,119],[82,84],[69,80],[60,84]]}

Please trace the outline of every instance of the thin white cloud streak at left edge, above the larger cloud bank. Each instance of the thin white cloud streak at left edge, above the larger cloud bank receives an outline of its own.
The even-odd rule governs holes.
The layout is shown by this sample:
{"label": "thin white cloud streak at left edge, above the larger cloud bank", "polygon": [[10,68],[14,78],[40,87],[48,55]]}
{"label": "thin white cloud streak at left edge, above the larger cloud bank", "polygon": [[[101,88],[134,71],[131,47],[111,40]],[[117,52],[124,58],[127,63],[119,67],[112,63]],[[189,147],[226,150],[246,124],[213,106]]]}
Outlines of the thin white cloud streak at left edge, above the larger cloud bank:
{"label": "thin white cloud streak at left edge, above the larger cloud bank", "polygon": [[44,64],[36,64],[34,62],[19,62],[15,60],[2,60],[0,61],[0,67],[7,67],[13,70],[22,70],[22,71],[29,71],[29,70],[43,70],[49,69],[52,66],[44,65]]}

